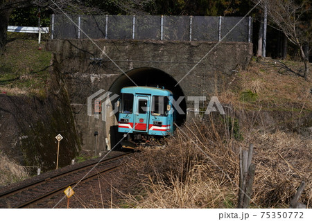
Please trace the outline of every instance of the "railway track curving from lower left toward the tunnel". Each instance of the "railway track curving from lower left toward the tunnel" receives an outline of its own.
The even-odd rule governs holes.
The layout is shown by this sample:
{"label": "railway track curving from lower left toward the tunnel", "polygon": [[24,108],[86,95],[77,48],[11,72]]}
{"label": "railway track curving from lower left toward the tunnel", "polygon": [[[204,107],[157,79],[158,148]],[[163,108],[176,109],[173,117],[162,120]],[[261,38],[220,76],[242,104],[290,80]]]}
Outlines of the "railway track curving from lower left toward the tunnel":
{"label": "railway track curving from lower left toward the tunnel", "polygon": [[[98,174],[114,170],[120,166],[121,159],[128,154],[130,152],[116,154],[114,157],[103,159],[100,163],[98,161],[101,158],[92,159],[76,164],[76,166],[53,170],[51,173],[36,177],[37,179],[31,182],[26,182],[26,184],[8,188],[4,191],[0,190],[0,208],[31,207],[33,204],[42,202],[64,191],[68,186],[74,186],[78,182],[85,182],[97,177]],[[96,167],[94,168],[94,166]]]}

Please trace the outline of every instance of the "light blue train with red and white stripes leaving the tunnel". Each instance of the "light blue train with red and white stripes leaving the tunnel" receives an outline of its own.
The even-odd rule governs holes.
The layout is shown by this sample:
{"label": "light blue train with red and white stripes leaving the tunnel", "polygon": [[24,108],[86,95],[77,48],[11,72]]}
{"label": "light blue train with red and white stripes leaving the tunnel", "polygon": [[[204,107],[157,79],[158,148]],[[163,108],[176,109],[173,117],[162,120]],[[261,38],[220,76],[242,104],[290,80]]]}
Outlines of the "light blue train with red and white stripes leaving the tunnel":
{"label": "light blue train with red and white stripes leaving the tunnel", "polygon": [[173,135],[173,93],[159,87],[123,87],[119,100],[118,132],[128,140]]}

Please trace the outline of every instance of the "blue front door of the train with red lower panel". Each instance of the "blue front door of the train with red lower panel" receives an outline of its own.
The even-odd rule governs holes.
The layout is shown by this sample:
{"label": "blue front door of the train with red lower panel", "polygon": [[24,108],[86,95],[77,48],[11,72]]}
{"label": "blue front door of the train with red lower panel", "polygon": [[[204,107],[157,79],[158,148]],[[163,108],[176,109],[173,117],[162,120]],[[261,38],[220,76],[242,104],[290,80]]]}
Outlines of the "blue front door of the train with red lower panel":
{"label": "blue front door of the train with red lower panel", "polygon": [[134,131],[148,132],[149,103],[150,99],[148,96],[135,96]]}

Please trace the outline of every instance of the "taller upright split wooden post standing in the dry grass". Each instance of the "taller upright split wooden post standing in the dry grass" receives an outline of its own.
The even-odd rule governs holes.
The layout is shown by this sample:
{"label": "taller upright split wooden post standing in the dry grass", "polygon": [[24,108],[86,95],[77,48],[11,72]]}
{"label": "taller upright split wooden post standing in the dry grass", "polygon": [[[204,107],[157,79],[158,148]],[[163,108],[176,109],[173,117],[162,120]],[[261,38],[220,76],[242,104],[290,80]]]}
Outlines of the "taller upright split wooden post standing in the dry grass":
{"label": "taller upright split wooden post standing in the dry grass", "polygon": [[256,165],[251,163],[254,145],[249,145],[249,150],[240,150],[239,157],[239,204],[237,208],[249,208],[250,197],[252,195],[252,183],[254,182],[254,172]]}

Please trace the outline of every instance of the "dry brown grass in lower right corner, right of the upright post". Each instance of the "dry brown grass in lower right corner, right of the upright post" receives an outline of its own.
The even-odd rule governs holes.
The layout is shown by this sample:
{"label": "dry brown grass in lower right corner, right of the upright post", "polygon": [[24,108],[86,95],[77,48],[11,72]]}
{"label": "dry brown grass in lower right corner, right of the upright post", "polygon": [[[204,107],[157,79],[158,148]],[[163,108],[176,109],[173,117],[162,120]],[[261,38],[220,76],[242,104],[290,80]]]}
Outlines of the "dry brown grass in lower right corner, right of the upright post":
{"label": "dry brown grass in lower right corner, right of the upright post", "polygon": [[256,145],[254,161],[258,175],[254,181],[255,202],[268,207],[289,204],[291,196],[304,180],[307,186],[302,201],[311,208],[311,139],[302,140],[297,134],[275,132],[259,134]]}

